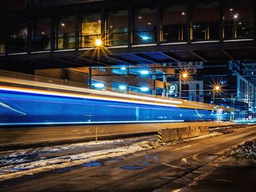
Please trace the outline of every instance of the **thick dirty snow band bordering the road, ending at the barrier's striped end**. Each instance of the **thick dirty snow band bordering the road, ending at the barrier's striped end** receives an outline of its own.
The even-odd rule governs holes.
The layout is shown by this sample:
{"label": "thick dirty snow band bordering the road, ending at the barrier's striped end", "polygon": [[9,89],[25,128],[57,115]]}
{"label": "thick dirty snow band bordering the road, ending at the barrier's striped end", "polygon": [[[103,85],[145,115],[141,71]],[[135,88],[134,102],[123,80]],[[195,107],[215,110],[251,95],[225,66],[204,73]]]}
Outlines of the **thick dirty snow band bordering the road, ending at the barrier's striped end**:
{"label": "thick dirty snow band bordering the road, ending at the barrier's striped end", "polygon": [[18,165],[2,166],[0,168],[0,181],[39,172],[46,172],[53,169],[63,169],[69,166],[89,163],[90,161],[99,161],[104,158],[128,155],[142,150],[150,150],[157,146],[157,142],[144,141],[129,146],[114,147],[106,150],[97,150],[75,155],[65,155],[57,158],[43,159]]}

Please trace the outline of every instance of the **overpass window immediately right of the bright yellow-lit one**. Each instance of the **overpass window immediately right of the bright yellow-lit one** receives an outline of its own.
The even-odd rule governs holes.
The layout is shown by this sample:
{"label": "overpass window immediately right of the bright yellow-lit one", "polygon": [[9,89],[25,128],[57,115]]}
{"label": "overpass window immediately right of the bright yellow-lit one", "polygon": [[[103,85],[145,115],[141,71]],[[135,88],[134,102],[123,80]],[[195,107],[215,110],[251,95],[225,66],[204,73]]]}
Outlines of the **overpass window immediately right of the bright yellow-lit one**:
{"label": "overpass window immediately right of the bright yellow-lit one", "polygon": [[108,12],[107,46],[127,45],[128,43],[128,11]]}

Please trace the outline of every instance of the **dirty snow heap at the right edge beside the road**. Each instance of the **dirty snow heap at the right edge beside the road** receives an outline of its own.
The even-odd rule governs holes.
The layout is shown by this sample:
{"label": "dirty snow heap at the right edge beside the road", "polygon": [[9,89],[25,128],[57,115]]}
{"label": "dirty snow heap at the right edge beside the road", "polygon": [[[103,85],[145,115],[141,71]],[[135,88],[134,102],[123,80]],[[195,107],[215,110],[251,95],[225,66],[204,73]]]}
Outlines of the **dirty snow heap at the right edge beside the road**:
{"label": "dirty snow heap at the right edge beside the road", "polygon": [[256,139],[245,142],[243,145],[232,147],[226,155],[227,161],[235,161],[242,164],[256,163]]}

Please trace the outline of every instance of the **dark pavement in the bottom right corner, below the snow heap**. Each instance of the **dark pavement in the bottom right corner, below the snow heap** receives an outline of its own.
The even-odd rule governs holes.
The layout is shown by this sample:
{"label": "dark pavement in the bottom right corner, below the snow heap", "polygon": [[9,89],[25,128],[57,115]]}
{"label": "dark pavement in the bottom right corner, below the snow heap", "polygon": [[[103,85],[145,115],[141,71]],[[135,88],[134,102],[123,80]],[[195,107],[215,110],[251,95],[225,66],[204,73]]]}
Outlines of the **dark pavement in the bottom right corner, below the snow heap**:
{"label": "dark pavement in the bottom right corner, below the snow heap", "polygon": [[256,191],[256,164],[220,166],[181,191]]}

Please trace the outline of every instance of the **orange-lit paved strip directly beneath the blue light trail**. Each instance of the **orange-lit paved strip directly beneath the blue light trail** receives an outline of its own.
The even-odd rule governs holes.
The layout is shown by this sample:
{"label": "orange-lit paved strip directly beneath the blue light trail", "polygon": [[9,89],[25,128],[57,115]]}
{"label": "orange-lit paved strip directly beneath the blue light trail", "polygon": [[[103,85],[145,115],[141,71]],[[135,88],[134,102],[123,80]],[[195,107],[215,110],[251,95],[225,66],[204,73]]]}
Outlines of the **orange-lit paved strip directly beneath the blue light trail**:
{"label": "orange-lit paved strip directly beneath the blue light trail", "polygon": [[227,126],[229,122],[138,123],[94,126],[45,126],[30,128],[0,128],[0,151],[26,147],[88,142],[95,139],[116,139],[155,134],[162,128],[186,126]]}

